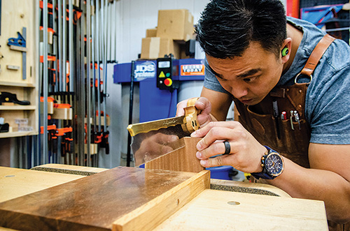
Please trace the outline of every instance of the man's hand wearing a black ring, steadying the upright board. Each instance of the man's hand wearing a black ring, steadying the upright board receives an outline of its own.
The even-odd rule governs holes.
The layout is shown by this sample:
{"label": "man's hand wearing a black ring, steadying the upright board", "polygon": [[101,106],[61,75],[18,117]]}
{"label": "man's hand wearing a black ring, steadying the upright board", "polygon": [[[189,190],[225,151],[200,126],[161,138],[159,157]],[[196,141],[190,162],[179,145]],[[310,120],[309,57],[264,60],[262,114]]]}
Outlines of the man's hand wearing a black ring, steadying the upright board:
{"label": "man's hand wearing a black ring, steadying the upright board", "polygon": [[[237,121],[210,122],[191,137],[203,137],[197,144],[196,155],[204,167],[231,165],[243,172],[262,171],[261,157],[267,149]],[[225,140],[230,142],[230,154],[216,156],[225,153]]]}

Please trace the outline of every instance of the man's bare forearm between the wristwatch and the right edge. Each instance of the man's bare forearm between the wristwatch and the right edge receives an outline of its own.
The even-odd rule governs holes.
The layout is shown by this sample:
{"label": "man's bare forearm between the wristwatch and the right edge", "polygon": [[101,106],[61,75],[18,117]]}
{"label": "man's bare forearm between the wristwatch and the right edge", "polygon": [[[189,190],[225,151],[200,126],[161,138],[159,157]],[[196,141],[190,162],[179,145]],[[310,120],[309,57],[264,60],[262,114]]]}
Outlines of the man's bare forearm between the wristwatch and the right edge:
{"label": "man's bare forearm between the wristwatch and the right edge", "polygon": [[293,198],[323,200],[327,218],[336,223],[350,221],[350,182],[327,170],[301,167],[284,158],[283,173],[272,184]]}

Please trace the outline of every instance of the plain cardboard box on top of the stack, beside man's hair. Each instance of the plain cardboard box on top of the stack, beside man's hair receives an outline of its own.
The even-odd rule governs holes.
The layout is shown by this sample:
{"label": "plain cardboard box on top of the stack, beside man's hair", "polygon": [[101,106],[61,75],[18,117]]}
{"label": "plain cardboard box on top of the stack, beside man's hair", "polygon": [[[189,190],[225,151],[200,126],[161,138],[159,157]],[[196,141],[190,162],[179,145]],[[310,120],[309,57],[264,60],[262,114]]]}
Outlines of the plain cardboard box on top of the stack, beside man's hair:
{"label": "plain cardboard box on top of the stack, beside man's hair", "polygon": [[158,11],[157,37],[187,41],[193,31],[193,15],[188,10]]}

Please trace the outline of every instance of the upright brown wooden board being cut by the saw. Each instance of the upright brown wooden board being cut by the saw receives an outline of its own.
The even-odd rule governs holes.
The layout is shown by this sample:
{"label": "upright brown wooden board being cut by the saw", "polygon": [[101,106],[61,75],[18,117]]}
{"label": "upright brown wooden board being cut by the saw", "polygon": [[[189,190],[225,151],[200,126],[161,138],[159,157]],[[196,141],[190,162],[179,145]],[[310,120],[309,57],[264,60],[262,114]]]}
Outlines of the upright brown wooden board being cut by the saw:
{"label": "upright brown wooden board being cut by the saw", "polygon": [[196,145],[200,140],[200,138],[183,137],[179,140],[179,142],[183,142],[182,147],[146,162],[145,168],[182,172],[200,172],[204,170],[205,167],[200,165],[200,160],[196,157]]}

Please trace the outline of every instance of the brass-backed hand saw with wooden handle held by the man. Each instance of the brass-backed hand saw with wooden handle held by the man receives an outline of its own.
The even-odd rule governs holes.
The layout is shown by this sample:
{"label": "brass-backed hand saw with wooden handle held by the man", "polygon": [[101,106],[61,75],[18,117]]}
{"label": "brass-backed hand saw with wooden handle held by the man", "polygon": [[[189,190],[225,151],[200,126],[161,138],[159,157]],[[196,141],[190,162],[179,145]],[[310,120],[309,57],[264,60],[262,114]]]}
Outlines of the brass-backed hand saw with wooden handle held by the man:
{"label": "brass-backed hand saw with wooden handle held by the man", "polygon": [[130,124],[127,130],[132,139],[132,152],[135,166],[165,155],[184,144],[179,139],[189,136],[196,131],[200,124],[197,122],[199,111],[195,108],[198,98],[188,100],[184,108],[185,115],[160,119],[140,124]]}

